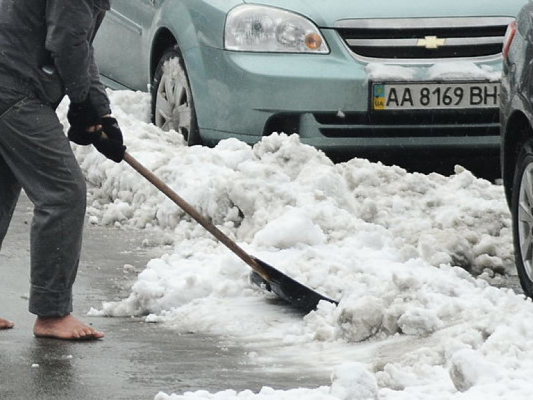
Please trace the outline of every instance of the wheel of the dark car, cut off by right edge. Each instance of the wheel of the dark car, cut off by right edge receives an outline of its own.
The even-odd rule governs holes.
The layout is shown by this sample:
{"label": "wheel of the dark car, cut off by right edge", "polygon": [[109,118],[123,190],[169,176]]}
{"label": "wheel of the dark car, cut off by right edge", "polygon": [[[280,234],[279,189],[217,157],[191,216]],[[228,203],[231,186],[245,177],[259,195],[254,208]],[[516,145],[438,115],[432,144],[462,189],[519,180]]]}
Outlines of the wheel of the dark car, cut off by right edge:
{"label": "wheel of the dark car, cut off by right edge", "polygon": [[533,139],[518,155],[511,195],[514,258],[520,284],[533,297]]}

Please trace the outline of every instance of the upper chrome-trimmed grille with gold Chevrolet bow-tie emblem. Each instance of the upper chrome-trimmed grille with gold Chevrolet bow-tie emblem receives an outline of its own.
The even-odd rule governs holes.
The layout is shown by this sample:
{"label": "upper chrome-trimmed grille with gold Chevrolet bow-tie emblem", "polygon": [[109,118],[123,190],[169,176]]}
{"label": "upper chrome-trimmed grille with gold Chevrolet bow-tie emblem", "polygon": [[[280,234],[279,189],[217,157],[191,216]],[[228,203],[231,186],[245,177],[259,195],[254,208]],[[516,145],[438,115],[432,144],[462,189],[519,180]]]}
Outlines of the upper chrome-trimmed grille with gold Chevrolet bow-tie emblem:
{"label": "upper chrome-trimmed grille with gold Chevrolet bow-tie emblem", "polygon": [[347,19],[335,30],[357,56],[378,59],[495,56],[510,17]]}

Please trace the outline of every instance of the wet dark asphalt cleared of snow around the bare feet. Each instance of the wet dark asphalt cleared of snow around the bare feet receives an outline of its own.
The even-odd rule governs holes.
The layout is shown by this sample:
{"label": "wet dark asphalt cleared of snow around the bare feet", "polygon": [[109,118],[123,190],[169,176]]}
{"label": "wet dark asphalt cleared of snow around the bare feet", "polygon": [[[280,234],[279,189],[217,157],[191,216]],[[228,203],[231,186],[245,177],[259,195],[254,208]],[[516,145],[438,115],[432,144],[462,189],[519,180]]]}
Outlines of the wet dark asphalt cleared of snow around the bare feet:
{"label": "wet dark asphalt cleared of snow around the bare feet", "polygon": [[[34,338],[28,308],[28,231],[31,203],[22,197],[0,252],[0,315],[17,325],[0,331],[0,399],[153,399],[159,391],[316,387],[327,385],[301,372],[269,374],[249,364],[244,349],[224,338],[178,334],[133,318],[90,318],[101,301],[128,295],[124,265],[143,269],[160,255],[143,247],[146,233],[87,226],[74,288],[74,314],[104,331],[97,342]],[[133,274],[135,276],[135,274]],[[130,278],[133,278],[130,277]]]}

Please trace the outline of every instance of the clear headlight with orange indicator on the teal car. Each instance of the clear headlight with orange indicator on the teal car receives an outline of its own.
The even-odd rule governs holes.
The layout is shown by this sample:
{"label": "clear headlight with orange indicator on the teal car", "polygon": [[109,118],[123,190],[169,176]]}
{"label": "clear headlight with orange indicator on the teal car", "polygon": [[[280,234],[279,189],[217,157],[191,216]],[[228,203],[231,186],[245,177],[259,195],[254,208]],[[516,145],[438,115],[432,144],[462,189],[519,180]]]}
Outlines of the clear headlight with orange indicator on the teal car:
{"label": "clear headlight with orange indicator on the teal car", "polygon": [[319,28],[309,19],[280,8],[244,5],[226,18],[224,47],[233,51],[329,53]]}

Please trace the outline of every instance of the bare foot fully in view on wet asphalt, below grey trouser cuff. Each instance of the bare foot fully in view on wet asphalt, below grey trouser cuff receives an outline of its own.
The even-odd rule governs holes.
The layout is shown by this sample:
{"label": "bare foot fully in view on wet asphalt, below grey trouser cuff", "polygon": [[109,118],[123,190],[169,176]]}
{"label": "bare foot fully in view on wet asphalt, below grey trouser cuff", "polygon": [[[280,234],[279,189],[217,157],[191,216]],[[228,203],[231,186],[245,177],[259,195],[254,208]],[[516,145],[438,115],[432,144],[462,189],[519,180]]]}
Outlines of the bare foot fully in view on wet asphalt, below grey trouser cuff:
{"label": "bare foot fully in view on wet asphalt, below grey trouser cuff", "polygon": [[64,340],[94,340],[103,338],[103,333],[85,325],[73,315],[64,317],[37,317],[33,335],[39,338]]}

